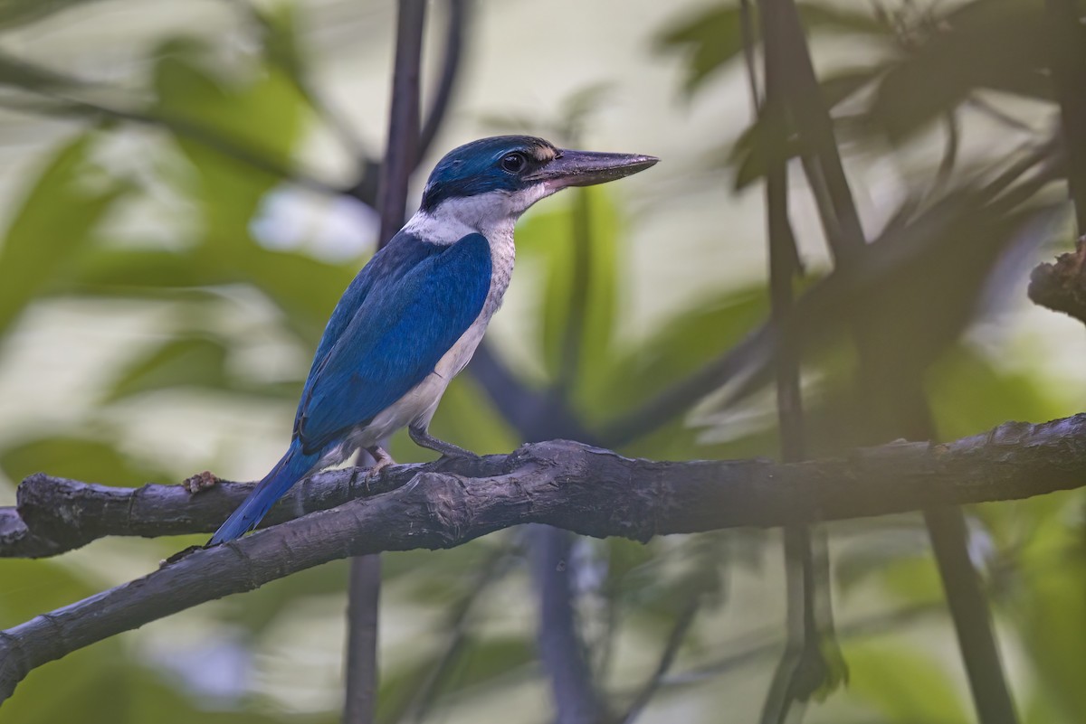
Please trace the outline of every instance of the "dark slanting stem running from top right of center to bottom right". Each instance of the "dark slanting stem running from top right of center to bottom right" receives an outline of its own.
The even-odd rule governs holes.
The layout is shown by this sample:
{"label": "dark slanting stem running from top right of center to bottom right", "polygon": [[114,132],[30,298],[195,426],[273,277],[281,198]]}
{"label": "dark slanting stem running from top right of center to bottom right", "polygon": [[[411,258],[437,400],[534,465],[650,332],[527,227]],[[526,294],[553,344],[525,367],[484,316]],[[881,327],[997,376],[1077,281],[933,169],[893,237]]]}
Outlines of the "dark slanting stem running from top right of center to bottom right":
{"label": "dark slanting stem running from top right of center to bottom right", "polygon": [[[833,133],[829,108],[821,95],[807,38],[793,0],[763,0],[763,22],[774,25],[784,54],[786,89],[794,125],[806,148],[805,169],[831,250],[838,266],[847,264],[864,245],[856,203],[848,186]],[[812,163],[812,161],[817,161]],[[862,399],[869,408],[889,413],[894,436],[913,440],[934,439],[934,425],[923,397],[921,379],[894,380],[893,389],[881,386],[879,344],[868,325],[855,324]],[[887,431],[887,430],[883,430]],[[938,563],[947,602],[969,675],[973,701],[983,724],[1016,721],[996,647],[987,602],[980,577],[970,563],[963,514],[960,509],[927,510],[925,523]]]}

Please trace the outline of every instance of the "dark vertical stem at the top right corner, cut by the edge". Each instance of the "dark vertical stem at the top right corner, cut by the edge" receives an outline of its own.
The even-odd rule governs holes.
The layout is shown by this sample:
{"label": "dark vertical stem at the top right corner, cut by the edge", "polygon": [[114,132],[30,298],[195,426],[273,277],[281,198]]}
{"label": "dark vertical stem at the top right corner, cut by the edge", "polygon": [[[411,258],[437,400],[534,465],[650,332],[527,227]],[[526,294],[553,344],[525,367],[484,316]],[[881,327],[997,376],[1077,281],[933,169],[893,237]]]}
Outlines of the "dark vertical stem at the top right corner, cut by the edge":
{"label": "dark vertical stem at the top right corner, cut by the edge", "polygon": [[1075,0],[1046,0],[1052,82],[1068,150],[1068,186],[1078,234],[1086,234],[1086,34]]}

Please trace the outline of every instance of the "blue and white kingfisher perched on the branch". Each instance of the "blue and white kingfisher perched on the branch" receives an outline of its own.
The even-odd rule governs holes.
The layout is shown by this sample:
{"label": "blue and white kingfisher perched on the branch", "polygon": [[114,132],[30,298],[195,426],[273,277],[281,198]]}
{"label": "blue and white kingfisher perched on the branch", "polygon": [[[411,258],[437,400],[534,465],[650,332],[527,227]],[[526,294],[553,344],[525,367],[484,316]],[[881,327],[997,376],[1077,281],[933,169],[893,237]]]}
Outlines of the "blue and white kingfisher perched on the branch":
{"label": "blue and white kingfisher perched on the branch", "polygon": [[421,208],[358,272],[328,320],[287,453],[209,545],[252,530],[296,481],[359,448],[376,461],[369,475],[378,474],[393,463],[380,441],[402,427],[442,455],[471,455],[428,428],[502,303],[517,219],[567,186],[613,181],[656,161],[556,148],[527,135],[482,139],[442,158]]}

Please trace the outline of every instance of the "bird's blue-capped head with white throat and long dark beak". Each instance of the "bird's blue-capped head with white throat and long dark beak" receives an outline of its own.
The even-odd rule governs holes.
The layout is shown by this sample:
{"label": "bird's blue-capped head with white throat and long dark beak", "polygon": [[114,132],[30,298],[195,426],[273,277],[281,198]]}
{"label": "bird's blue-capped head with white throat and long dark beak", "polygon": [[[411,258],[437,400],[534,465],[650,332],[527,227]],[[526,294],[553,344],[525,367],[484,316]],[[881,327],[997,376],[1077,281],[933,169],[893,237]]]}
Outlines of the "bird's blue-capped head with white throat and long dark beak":
{"label": "bird's blue-capped head with white throat and long dark beak", "polygon": [[567,186],[621,179],[658,158],[635,154],[557,148],[530,135],[472,141],[438,161],[420,211],[476,230],[512,223],[529,206]]}

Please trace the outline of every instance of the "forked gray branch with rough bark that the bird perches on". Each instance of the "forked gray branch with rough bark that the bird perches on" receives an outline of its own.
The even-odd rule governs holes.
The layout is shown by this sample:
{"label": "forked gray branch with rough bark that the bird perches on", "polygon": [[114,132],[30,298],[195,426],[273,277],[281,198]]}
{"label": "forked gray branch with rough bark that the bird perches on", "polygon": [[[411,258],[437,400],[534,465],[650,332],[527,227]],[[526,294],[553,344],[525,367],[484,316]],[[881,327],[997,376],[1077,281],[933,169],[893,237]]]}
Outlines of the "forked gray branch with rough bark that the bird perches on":
{"label": "forked gray branch with rough bark that the bird perches on", "polygon": [[[5,555],[31,544],[59,550],[64,544],[58,535],[73,530],[84,542],[105,534],[210,531],[250,489],[223,483],[189,494],[177,486],[126,490],[45,476],[27,483],[34,493],[23,491],[20,507],[0,518]],[[1086,414],[1039,425],[1007,423],[946,444],[900,442],[792,464],[631,460],[559,440],[509,455],[388,468],[368,495],[352,483],[351,470],[327,473],[301,483],[269,516],[269,522],[296,519],[197,550],[0,632],[0,700],[35,668],[84,646],[337,558],[447,548],[527,522],[647,541],[1023,499],[1083,486]],[[336,507],[298,517],[330,506]],[[98,515],[102,520],[92,519]],[[25,533],[12,536],[13,527]]]}

